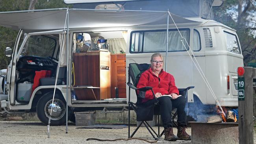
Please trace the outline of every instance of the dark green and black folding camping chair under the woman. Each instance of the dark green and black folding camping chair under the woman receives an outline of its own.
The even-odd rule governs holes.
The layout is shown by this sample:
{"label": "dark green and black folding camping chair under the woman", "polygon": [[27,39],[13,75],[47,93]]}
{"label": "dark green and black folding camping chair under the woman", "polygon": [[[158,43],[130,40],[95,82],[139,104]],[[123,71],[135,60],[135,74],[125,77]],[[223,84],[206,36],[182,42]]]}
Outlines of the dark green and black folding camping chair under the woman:
{"label": "dark green and black folding camping chair under the woman", "polygon": [[[145,98],[145,95],[143,97],[143,92],[146,92],[147,90],[151,90],[152,93],[154,94],[154,91],[152,90],[152,87],[143,87],[140,89],[137,89],[137,83],[139,81],[139,78],[141,76],[141,74],[147,70],[150,67],[150,64],[137,64],[137,63],[130,63],[129,64],[129,69],[128,69],[128,83],[127,85],[129,86],[129,99],[128,99],[128,138],[131,138],[134,136],[134,134],[137,132],[137,130],[139,129],[139,127],[141,127],[142,124],[145,125],[145,127],[148,129],[149,133],[152,135],[152,137],[156,140],[158,140],[162,135],[163,132],[160,135],[160,118],[159,118],[159,111],[154,111],[154,107],[158,104],[158,100],[156,99],[156,102],[154,103],[154,105],[152,105],[151,107],[143,107],[141,106],[141,100],[143,98]],[[131,79],[132,79],[132,83],[131,83]],[[139,93],[136,92],[137,95],[137,102],[133,103],[130,101],[130,90],[134,89],[134,90],[139,90]],[[186,96],[187,97],[187,90],[194,88],[194,87],[187,87],[186,89],[178,89],[180,94],[182,96]],[[154,94],[155,95],[155,94]],[[136,115],[137,115],[137,120],[139,117],[138,121],[141,121],[139,126],[137,126],[137,128],[135,129],[135,131],[132,133],[132,135],[130,135],[130,107],[132,107],[132,109],[135,111]],[[143,113],[142,116],[140,116],[138,113],[138,110],[141,110],[144,112],[143,109],[146,110],[145,113],[150,113],[149,116],[145,116],[145,113]],[[147,109],[150,109],[149,111],[147,111]],[[148,124],[147,121],[152,120],[153,119],[153,114],[154,115],[158,115],[158,134],[156,133],[156,131],[154,131],[154,129]],[[146,114],[148,115],[148,114]],[[174,118],[177,116],[177,112],[175,112],[172,116],[172,120],[174,125],[177,126],[177,124],[174,122]],[[177,126],[178,127],[178,126]],[[153,134],[153,133],[156,135]]]}

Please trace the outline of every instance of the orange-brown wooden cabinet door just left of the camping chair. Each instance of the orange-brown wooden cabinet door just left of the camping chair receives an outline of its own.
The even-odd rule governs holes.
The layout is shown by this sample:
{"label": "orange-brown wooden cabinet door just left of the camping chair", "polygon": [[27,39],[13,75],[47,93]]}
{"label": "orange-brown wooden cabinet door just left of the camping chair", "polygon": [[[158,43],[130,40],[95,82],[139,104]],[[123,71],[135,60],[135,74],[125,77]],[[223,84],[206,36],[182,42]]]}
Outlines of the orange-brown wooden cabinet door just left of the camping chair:
{"label": "orange-brown wooden cabinet door just left of the camping chair", "polygon": [[126,98],[125,54],[111,54],[111,98],[115,98],[115,88],[118,88],[119,98]]}

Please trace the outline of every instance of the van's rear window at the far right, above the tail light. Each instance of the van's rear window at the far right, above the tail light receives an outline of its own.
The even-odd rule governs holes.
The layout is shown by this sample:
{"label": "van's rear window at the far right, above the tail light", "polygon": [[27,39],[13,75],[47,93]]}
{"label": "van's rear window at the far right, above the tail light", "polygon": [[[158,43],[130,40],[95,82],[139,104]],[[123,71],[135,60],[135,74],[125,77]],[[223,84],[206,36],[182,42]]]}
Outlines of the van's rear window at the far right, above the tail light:
{"label": "van's rear window at the far right, above the tail light", "polygon": [[226,35],[227,50],[229,52],[234,52],[236,54],[241,54],[236,35],[234,35],[232,33],[228,33],[227,31],[224,31],[224,33]]}

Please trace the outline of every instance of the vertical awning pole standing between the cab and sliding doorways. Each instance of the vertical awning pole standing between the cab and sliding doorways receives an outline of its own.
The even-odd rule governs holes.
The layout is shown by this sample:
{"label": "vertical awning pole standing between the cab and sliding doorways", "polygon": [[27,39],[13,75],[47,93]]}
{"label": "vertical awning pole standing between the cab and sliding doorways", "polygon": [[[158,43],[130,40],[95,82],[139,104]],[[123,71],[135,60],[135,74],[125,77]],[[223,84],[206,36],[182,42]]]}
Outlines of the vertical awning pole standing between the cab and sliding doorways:
{"label": "vertical awning pole standing between the cab and sliding doorways", "polygon": [[69,101],[69,7],[67,9],[67,92],[66,92],[66,133],[68,133],[68,101]]}

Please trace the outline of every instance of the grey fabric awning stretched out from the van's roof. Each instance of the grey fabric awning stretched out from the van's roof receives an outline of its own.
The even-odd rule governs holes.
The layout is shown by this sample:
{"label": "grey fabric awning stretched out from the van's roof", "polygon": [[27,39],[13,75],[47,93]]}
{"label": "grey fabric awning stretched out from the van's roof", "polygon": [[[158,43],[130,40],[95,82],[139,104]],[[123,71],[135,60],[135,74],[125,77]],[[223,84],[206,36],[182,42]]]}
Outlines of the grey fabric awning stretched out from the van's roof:
{"label": "grey fabric awning stretched out from the van's roof", "polygon": [[[14,30],[46,31],[64,28],[67,9],[0,13],[0,25]],[[69,28],[98,28],[166,24],[166,11],[107,11],[69,9]],[[197,22],[172,14],[176,23]],[[173,21],[169,20],[169,24]]]}

